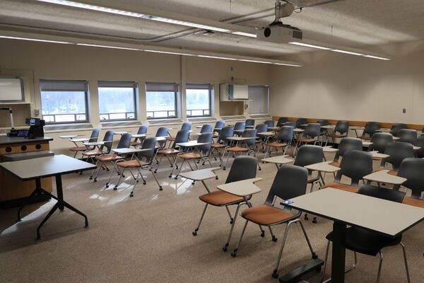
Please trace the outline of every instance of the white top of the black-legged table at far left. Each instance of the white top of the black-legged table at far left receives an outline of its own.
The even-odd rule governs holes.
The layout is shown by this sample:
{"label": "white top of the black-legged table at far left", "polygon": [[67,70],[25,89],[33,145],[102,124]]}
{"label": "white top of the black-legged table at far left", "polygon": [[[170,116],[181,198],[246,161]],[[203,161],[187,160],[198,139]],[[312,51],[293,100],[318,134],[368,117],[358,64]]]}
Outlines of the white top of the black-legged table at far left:
{"label": "white top of the black-legged table at far left", "polygon": [[0,166],[22,180],[33,180],[96,168],[95,164],[87,163],[63,154],[3,162],[0,163]]}

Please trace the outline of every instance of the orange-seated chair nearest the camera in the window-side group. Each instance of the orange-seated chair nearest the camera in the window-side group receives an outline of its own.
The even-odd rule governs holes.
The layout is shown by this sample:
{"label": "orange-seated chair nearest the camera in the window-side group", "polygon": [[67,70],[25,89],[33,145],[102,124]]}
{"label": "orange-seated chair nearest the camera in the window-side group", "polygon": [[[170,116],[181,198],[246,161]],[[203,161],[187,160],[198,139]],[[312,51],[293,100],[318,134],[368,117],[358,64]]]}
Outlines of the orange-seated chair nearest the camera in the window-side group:
{"label": "orange-seated chair nearest the camera in the window-side group", "polygon": [[[158,179],[155,176],[155,173],[153,173],[153,160],[155,156],[155,146],[156,146],[156,138],[151,137],[148,139],[145,139],[143,142],[143,145],[141,145],[141,149],[143,151],[140,151],[136,154],[132,154],[131,158],[128,161],[120,160],[117,161],[117,168],[122,168],[122,171],[119,171],[119,180],[117,185],[114,186],[114,190],[117,190],[117,187],[119,187],[119,184],[121,183],[122,177],[124,177],[124,171],[126,169],[129,170],[131,173],[132,178],[134,179],[134,185],[133,189],[131,190],[131,193],[129,194],[130,197],[134,197],[134,190],[136,189],[136,184],[139,183],[139,178],[143,180],[143,185],[146,185],[146,180],[143,177],[143,173],[141,173],[141,169],[151,171],[153,178],[155,179],[156,183],[159,186],[159,190],[163,190],[162,186],[158,182]],[[146,158],[145,161],[143,161],[143,158]],[[134,173],[132,173],[131,168],[136,168],[138,171],[137,176],[134,176]]]}

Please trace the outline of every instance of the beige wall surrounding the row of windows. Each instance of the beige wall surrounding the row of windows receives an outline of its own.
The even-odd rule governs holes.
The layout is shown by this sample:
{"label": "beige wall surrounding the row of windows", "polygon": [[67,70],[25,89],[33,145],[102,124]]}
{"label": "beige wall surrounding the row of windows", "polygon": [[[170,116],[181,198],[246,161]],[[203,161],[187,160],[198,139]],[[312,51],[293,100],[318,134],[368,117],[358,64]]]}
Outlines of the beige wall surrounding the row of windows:
{"label": "beige wall surrounding the row of windows", "polygon": [[[4,71],[4,70],[14,71]],[[28,105],[11,105],[15,124],[23,125],[25,117],[34,115],[40,109],[40,79],[80,79],[90,86],[90,122],[97,127],[98,118],[97,81],[137,81],[139,83],[139,120],[146,122],[145,89],[146,81],[184,83],[213,83],[215,86],[214,112],[220,114],[219,83],[237,80],[249,84],[269,84],[271,68],[267,64],[252,64],[220,59],[180,57],[171,54],[157,54],[130,50],[113,50],[99,47],[61,45],[22,40],[0,40],[0,74],[13,73],[25,76],[30,93]],[[27,91],[27,89],[25,89]],[[184,91],[182,105],[185,109]],[[240,103],[235,103],[235,114],[239,114]],[[242,107],[241,107],[242,108]],[[230,108],[231,109],[231,108]],[[183,111],[184,112],[184,111]],[[228,109],[225,114],[228,115]],[[184,119],[183,115],[183,119]],[[8,113],[0,112],[0,126],[8,127]],[[177,132],[179,125],[171,126]],[[155,133],[157,127],[149,132]],[[119,129],[115,129],[119,130]],[[136,132],[136,127],[123,129]],[[100,133],[102,137],[103,133]],[[59,139],[63,133],[48,133],[54,138],[52,149],[57,153],[68,153],[69,141]],[[67,132],[66,134],[87,135],[89,132]],[[118,137],[117,137],[118,139]]]}

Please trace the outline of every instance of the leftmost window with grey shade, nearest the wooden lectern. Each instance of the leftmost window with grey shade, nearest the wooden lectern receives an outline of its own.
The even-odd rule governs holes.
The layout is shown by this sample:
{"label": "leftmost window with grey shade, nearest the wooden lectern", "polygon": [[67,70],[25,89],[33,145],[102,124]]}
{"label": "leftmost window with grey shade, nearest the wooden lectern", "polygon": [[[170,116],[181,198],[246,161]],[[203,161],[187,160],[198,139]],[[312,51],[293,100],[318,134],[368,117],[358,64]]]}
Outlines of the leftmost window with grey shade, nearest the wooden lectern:
{"label": "leftmost window with grey shade, nearest the wooden lectern", "polygon": [[87,81],[40,80],[40,91],[46,123],[88,122]]}

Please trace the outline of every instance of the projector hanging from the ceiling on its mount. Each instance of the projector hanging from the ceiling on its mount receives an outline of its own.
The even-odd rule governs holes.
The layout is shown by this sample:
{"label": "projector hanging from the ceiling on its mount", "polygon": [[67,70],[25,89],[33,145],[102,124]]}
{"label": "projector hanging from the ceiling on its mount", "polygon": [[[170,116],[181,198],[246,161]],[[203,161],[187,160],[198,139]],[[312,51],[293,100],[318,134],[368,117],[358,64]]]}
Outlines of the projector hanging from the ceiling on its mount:
{"label": "projector hanging from the ceiling on its mount", "polygon": [[293,4],[276,1],[276,19],[269,26],[257,29],[257,39],[274,43],[302,40],[302,30],[291,25],[284,25],[281,22],[281,18],[290,16],[294,10],[295,6]]}

